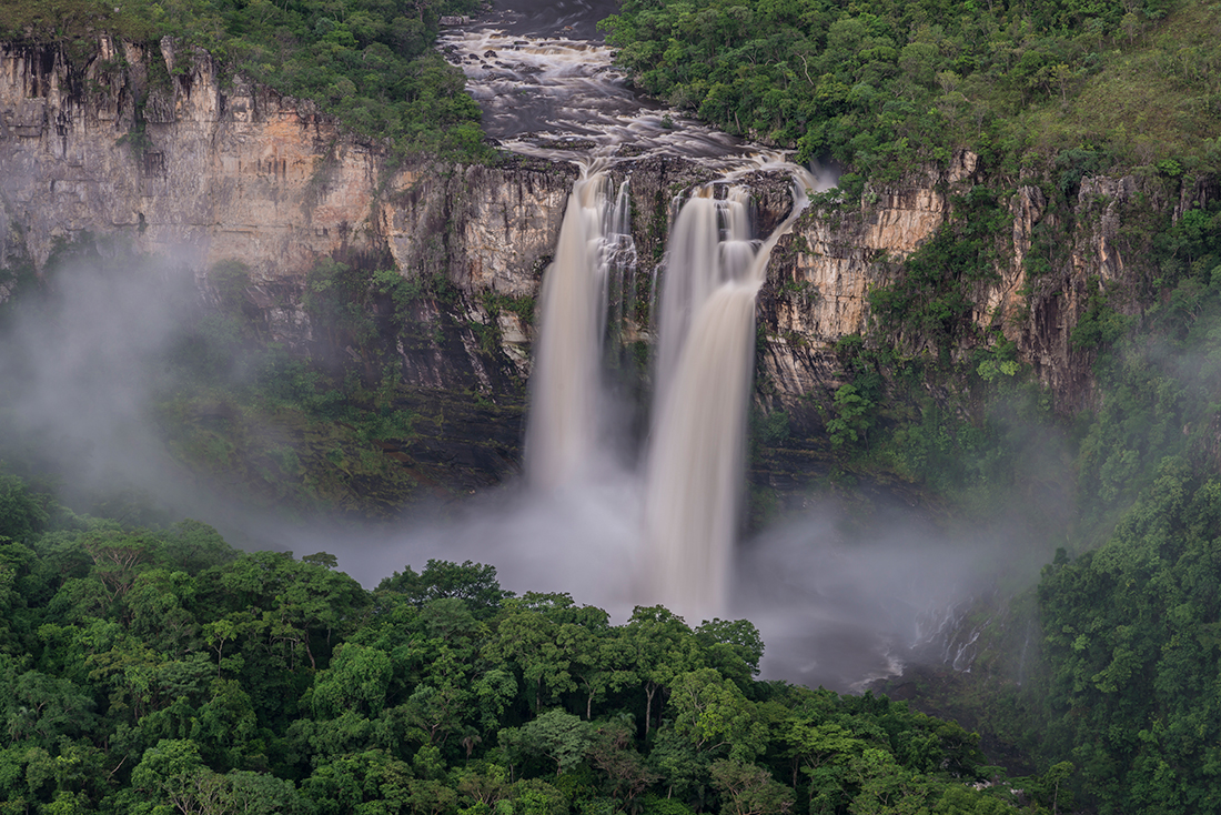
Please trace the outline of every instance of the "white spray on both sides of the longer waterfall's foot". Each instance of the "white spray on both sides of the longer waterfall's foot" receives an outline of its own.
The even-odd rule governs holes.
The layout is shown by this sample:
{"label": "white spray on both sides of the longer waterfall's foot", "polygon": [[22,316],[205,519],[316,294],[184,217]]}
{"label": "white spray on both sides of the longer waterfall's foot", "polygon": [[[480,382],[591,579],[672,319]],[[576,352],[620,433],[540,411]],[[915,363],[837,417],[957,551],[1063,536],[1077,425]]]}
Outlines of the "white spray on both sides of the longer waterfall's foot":
{"label": "white spray on both sides of the longer waterfall's foot", "polygon": [[[641,604],[643,495],[634,472],[600,467],[598,478],[549,494],[518,484],[477,496],[462,517],[343,550],[341,566],[371,587],[391,566],[419,569],[427,558],[491,563],[508,589],[568,593],[624,623]],[[993,585],[1001,543],[950,538],[906,506],[861,514],[827,499],[735,547],[720,616],[759,629],[764,679],[860,690],[919,661],[937,621]],[[335,551],[325,536],[317,547]]]}

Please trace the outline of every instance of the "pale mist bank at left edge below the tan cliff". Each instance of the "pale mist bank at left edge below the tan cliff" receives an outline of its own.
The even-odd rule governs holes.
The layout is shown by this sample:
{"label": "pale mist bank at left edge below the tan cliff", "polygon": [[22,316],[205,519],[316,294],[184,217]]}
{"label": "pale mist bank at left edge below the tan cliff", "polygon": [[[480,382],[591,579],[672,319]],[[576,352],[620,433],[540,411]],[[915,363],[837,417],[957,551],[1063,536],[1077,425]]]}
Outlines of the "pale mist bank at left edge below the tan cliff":
{"label": "pale mist bank at left edge below the tan cliff", "polygon": [[126,523],[147,523],[148,512],[205,517],[244,540],[225,522],[245,511],[203,489],[155,430],[154,392],[171,386],[166,360],[181,347],[183,308],[198,297],[194,275],[126,252],[84,253],[42,290],[9,304],[0,331],[0,458],[53,474],[78,511]]}

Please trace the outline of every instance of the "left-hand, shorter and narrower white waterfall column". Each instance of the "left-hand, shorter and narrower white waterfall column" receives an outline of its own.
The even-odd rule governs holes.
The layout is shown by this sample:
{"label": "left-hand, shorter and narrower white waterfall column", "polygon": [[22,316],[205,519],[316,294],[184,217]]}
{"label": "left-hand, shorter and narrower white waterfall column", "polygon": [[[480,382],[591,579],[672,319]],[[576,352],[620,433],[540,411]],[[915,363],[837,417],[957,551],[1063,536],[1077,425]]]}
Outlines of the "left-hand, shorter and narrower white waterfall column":
{"label": "left-hand, shorter and narrower white waterfall column", "polygon": [[626,208],[625,189],[613,194],[603,165],[581,166],[540,293],[525,456],[537,489],[579,479],[597,450],[608,281],[625,255],[635,257]]}

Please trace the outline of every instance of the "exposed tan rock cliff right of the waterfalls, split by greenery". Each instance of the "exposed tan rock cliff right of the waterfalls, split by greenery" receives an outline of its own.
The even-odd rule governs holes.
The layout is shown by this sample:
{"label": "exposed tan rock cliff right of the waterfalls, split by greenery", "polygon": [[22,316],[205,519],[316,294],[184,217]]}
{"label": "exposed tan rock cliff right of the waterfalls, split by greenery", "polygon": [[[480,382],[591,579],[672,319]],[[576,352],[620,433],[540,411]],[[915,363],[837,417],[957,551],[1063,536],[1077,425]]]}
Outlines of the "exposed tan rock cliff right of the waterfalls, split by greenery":
{"label": "exposed tan rock cliff right of the waterfalls, split by greenery", "polygon": [[[954,197],[985,181],[978,158],[962,152],[945,170],[867,188],[858,208],[816,208],[802,216],[778,247],[761,298],[769,329],[761,354],[764,398],[769,395],[797,417],[817,422],[817,411],[802,395],[825,393],[841,384],[835,342],[895,327],[871,323],[869,290],[893,282],[895,261],[951,217]],[[1139,312],[1138,291],[1151,269],[1149,224],[1165,213],[1177,220],[1217,197],[1215,177],[1183,185],[1149,176],[1087,177],[1067,205],[1059,206],[1040,187],[1016,186],[1001,202],[1012,226],[998,247],[994,281],[969,290],[972,321],[1015,343],[1018,357],[1051,390],[1059,412],[1089,407],[1095,398],[1093,354],[1074,348],[1071,336],[1090,290],[1115,294],[1112,304],[1121,310]],[[1032,252],[1042,253],[1044,261],[1037,274],[1027,263]]]}

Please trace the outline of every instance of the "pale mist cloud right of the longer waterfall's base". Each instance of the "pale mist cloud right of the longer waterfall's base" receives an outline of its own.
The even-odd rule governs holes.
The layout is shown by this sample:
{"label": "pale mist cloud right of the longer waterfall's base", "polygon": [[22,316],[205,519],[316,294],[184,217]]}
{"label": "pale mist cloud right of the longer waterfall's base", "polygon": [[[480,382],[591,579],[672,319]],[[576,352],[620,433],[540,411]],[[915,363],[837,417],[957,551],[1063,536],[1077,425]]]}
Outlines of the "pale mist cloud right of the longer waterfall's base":
{"label": "pale mist cloud right of the longer waterfall's base", "polygon": [[[994,587],[1002,544],[907,507],[849,514],[828,500],[740,547],[731,611],[763,634],[764,676],[860,690],[908,663],[969,668],[954,615]],[[932,652],[951,641],[957,663]]]}

